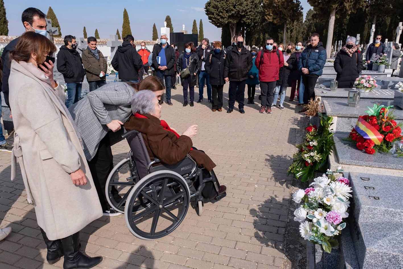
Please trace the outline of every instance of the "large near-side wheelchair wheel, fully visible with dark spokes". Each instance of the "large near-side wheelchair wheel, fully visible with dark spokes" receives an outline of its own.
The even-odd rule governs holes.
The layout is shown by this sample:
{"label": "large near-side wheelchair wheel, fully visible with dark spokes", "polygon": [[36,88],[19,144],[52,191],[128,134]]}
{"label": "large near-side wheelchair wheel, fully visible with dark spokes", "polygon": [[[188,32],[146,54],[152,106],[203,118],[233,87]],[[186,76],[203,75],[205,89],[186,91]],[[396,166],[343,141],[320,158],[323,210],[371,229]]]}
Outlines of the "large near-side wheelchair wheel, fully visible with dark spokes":
{"label": "large near-side wheelchair wheel, fully visible with dark spokes", "polygon": [[[136,210],[141,198],[150,204]],[[181,224],[189,204],[190,190],[185,179],[172,171],[156,171],[143,177],[131,190],[125,206],[127,227],[141,239],[161,238]]]}

